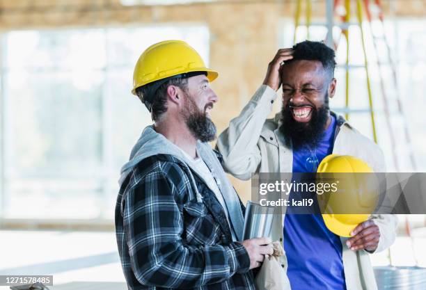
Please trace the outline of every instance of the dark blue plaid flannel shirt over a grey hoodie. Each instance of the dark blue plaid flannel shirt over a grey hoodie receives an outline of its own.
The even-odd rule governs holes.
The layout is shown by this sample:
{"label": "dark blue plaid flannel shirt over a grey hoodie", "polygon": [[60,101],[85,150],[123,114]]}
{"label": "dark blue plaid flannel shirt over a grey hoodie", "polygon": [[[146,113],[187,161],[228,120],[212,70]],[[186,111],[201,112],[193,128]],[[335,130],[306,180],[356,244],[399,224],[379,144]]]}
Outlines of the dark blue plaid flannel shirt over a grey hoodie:
{"label": "dark blue plaid flannel shirt over a grey hoodie", "polygon": [[255,289],[221,204],[172,155],[143,159],[122,184],[116,237],[129,289]]}

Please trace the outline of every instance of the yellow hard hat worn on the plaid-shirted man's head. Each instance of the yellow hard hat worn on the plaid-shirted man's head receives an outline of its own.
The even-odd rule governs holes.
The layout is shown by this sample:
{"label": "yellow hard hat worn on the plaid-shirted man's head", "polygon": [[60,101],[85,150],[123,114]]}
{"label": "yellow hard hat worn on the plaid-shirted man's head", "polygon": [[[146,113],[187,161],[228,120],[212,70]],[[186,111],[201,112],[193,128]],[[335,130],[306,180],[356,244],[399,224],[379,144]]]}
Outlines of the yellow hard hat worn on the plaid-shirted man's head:
{"label": "yellow hard hat worn on the plaid-shirted man's head", "polygon": [[182,40],[166,40],[151,45],[139,57],[133,73],[132,94],[136,88],[160,79],[189,72],[206,72],[213,81],[217,72],[205,67],[203,59],[195,49]]}

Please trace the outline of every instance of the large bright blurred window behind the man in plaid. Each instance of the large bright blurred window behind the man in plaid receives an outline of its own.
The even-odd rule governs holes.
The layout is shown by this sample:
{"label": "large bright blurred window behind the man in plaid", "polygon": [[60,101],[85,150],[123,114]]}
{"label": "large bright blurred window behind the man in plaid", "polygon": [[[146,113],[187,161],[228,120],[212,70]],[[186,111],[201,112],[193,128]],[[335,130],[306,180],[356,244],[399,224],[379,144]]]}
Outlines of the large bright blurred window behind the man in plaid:
{"label": "large bright blurred window behind the man in plaid", "polygon": [[3,35],[3,218],[113,218],[120,167],[151,123],[130,93],[134,64],[166,39],[208,61],[202,24]]}

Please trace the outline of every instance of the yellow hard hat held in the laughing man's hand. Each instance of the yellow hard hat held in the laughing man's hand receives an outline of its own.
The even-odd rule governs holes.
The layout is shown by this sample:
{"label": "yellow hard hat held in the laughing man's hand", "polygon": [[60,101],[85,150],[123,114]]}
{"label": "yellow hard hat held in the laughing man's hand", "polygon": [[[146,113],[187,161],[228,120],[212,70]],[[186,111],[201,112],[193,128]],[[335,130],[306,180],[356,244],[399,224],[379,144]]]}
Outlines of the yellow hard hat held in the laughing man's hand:
{"label": "yellow hard hat held in the laughing man's hand", "polygon": [[[377,181],[374,175],[339,175],[339,173],[371,173],[365,161],[354,156],[331,154],[319,163],[318,173],[331,173],[339,180],[339,188],[347,193],[330,193],[322,218],[328,229],[338,236],[350,237],[352,229],[368,220],[378,201]],[[334,175],[333,175],[334,174]],[[344,178],[339,178],[344,176]],[[344,179],[344,180],[342,180]],[[373,179],[373,180],[372,180]],[[342,184],[342,182],[344,184]],[[323,195],[318,195],[319,203]],[[368,214],[333,214],[333,212],[362,212]]]}

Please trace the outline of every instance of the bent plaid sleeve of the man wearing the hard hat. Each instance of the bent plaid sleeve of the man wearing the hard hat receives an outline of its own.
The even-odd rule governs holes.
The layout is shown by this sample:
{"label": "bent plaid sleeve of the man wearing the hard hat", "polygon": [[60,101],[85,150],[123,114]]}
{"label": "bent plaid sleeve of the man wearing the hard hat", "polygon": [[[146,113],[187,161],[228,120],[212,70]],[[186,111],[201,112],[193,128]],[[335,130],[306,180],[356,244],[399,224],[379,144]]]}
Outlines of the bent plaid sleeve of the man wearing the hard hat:
{"label": "bent plaid sleeve of the man wearing the hard hat", "polygon": [[203,247],[182,241],[183,216],[175,197],[184,187],[161,170],[151,170],[125,195],[123,223],[132,271],[141,284],[193,288],[248,271],[248,254],[240,243]]}

